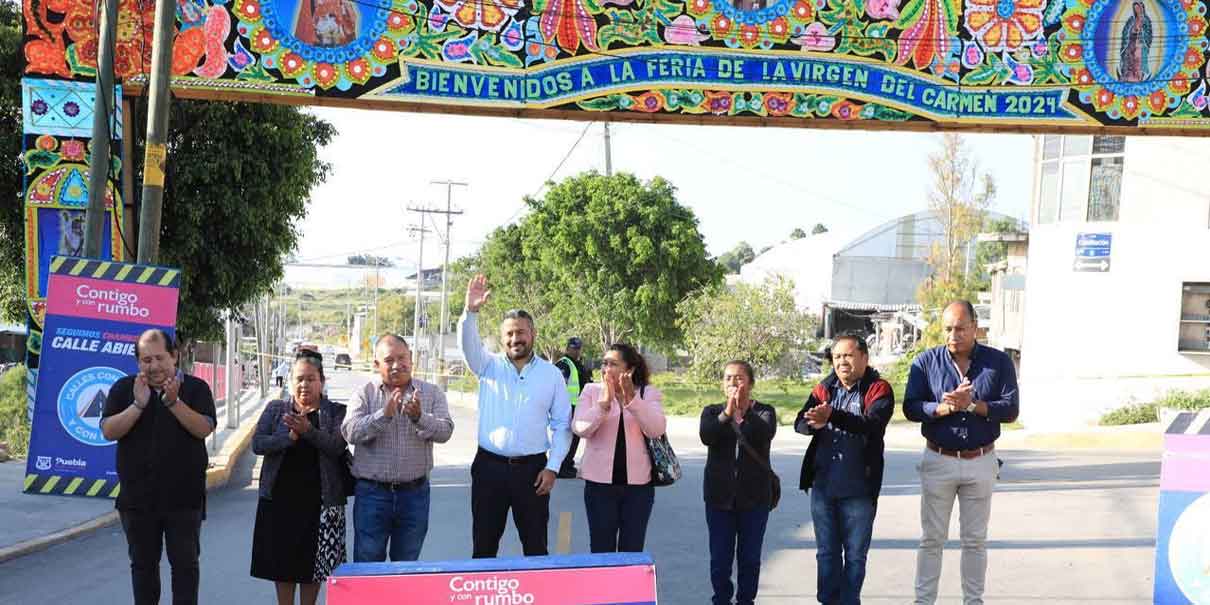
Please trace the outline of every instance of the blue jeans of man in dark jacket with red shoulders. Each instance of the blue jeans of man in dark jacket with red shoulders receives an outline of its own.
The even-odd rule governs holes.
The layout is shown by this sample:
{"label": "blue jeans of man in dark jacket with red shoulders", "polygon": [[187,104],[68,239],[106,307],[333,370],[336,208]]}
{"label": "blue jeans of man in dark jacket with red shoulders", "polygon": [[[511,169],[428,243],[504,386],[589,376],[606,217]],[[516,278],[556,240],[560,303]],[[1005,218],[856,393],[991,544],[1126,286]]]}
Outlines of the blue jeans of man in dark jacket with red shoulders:
{"label": "blue jeans of man in dark jacket with red shoulders", "polygon": [[874,534],[874,499],[828,497],[811,490],[819,576],[816,598],[828,605],[858,605],[865,582],[865,555]]}

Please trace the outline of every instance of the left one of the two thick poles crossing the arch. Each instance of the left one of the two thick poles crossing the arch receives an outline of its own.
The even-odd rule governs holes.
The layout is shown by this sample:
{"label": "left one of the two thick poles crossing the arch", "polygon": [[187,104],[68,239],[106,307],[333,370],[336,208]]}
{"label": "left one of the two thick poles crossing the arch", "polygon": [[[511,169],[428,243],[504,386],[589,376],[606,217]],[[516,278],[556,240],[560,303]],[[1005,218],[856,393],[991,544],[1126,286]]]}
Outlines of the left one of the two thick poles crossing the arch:
{"label": "left one of the two thick poles crossing the arch", "polygon": [[[116,113],[114,111],[114,42],[117,39],[117,0],[100,2],[99,28],[97,96],[92,108],[92,155],[88,159],[88,211],[85,213],[83,232],[83,255],[92,259],[102,258],[100,247],[105,241],[109,145],[114,140],[113,115]],[[119,220],[120,209],[116,197],[114,196],[114,220]]]}

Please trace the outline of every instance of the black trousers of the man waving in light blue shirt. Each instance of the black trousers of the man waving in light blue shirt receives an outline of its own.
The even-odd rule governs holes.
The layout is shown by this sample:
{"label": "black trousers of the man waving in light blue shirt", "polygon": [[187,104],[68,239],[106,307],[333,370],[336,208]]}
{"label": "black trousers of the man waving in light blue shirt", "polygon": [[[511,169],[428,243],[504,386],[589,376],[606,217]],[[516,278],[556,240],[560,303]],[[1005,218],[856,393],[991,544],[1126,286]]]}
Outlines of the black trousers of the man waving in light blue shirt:
{"label": "black trousers of the man waving in light blue shirt", "polygon": [[525,557],[548,554],[551,496],[538,496],[534,486],[543,468],[544,454],[530,456],[523,462],[507,462],[483,449],[474,455],[471,463],[471,532],[476,559],[496,555],[508,524],[509,508]]}

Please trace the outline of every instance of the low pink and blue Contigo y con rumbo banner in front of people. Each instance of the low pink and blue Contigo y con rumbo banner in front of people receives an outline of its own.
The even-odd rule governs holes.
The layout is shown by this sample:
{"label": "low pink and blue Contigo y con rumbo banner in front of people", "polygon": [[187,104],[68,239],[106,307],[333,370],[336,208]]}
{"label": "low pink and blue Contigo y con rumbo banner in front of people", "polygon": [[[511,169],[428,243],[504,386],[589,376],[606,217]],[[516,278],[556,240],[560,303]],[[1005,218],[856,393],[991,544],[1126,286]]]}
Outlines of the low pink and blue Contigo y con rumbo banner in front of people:
{"label": "low pink and blue Contigo y con rumbo banner in front of people", "polygon": [[[407,595],[402,599],[402,595]],[[645,553],[426,563],[352,563],[328,578],[332,605],[656,605]]]}

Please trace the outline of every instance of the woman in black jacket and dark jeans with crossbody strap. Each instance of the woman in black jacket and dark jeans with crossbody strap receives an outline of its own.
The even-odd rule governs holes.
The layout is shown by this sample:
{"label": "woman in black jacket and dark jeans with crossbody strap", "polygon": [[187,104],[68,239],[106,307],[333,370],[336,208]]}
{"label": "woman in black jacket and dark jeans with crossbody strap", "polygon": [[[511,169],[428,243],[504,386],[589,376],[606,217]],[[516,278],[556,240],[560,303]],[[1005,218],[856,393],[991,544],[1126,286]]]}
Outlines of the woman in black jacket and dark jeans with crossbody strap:
{"label": "woman in black jacket and dark jeans with crossbody strap", "polygon": [[[773,478],[766,468],[777,433],[777,411],[751,399],[755,384],[748,362],[730,362],[722,373],[726,403],[702,410],[701,437],[707,446],[705,526],[710,535],[710,583],[714,605],[753,605],[760,583],[765,526],[773,505]],[[764,460],[739,444],[739,436]],[[736,587],[731,583],[737,563]]]}

